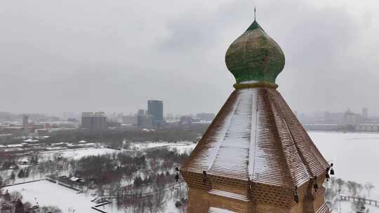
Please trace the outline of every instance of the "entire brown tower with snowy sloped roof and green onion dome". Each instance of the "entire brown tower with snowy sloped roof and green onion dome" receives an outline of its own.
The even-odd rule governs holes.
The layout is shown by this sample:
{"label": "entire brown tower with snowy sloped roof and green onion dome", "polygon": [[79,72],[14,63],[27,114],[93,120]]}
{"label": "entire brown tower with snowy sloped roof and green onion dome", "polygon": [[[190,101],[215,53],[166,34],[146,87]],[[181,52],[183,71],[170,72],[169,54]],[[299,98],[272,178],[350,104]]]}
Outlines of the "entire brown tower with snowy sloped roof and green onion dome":
{"label": "entire brown tower with snowy sloped roof and green onion dome", "polygon": [[228,48],[235,90],[180,169],[189,213],[330,212],[330,165],[277,90],[284,61],[255,20]]}

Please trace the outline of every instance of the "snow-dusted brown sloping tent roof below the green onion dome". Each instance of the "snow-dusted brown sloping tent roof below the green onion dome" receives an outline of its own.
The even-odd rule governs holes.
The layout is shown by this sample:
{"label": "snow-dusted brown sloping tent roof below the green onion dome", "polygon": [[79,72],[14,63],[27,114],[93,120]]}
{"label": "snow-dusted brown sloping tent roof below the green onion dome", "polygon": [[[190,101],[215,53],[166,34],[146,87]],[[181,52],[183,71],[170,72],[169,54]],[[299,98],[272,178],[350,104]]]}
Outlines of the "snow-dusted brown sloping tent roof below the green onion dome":
{"label": "snow-dusted brown sloping tent roof below the green onion dome", "polygon": [[274,88],[234,90],[182,171],[293,188],[329,167]]}

